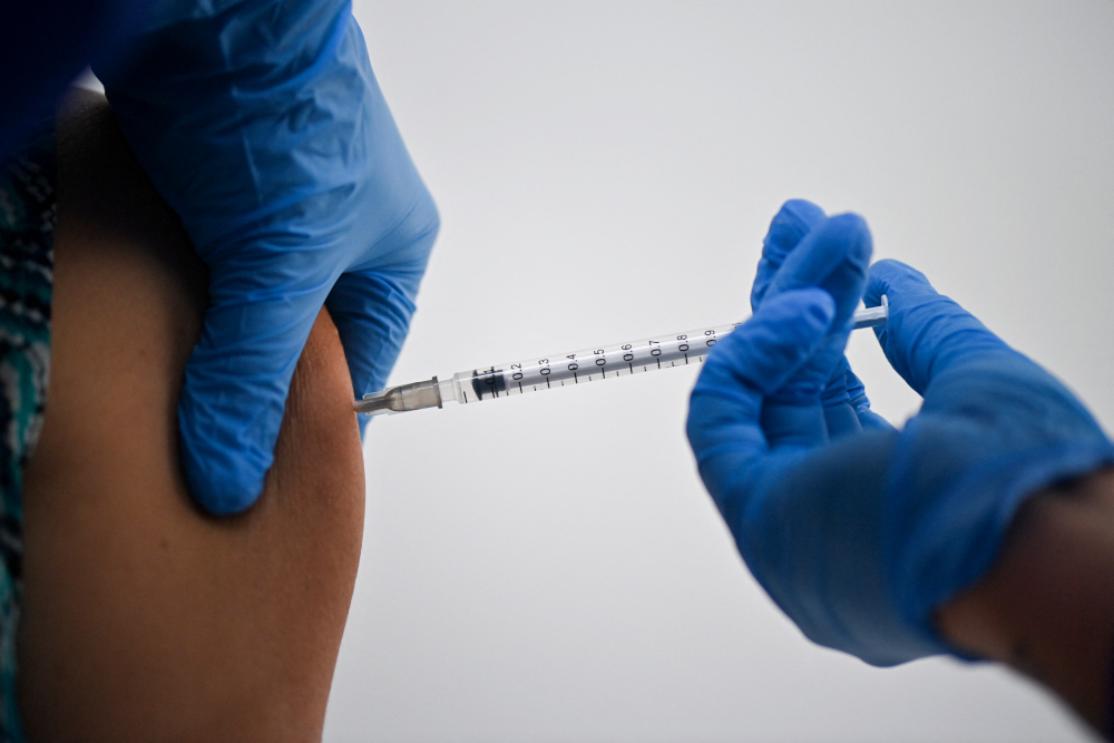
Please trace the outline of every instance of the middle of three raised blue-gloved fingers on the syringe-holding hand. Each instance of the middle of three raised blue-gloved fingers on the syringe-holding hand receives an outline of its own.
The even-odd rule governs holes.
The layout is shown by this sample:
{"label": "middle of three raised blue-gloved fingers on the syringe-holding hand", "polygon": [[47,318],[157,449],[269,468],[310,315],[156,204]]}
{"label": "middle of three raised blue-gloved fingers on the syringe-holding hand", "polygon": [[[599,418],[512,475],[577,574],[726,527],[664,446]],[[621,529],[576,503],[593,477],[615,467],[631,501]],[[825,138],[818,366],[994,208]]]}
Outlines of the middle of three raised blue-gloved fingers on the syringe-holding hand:
{"label": "middle of three raised blue-gloved fingers on the syringe-holding hand", "polygon": [[[873,250],[866,221],[841,214],[815,226],[789,254],[774,276],[763,301],[802,286],[819,286],[836,302],[836,315],[828,336],[809,362],[774,393],[779,403],[802,407],[820,399],[838,365],[851,333],[851,315],[866,284],[867,266]],[[838,381],[838,380],[837,380]],[[839,390],[834,390],[839,393]]]}

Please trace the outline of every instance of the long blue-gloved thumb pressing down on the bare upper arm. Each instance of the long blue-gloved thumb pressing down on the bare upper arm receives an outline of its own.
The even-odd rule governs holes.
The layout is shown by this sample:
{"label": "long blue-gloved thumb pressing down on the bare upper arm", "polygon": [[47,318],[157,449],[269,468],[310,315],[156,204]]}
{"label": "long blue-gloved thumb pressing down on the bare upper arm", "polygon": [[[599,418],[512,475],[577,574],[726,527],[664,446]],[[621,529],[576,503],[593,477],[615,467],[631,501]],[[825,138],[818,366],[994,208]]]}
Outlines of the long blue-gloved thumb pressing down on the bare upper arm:
{"label": "long blue-gloved thumb pressing down on the bare upper arm", "polygon": [[248,263],[213,270],[212,305],[178,402],[186,481],[216,515],[246,509],[263,490],[290,380],[331,284],[290,271],[293,263]]}

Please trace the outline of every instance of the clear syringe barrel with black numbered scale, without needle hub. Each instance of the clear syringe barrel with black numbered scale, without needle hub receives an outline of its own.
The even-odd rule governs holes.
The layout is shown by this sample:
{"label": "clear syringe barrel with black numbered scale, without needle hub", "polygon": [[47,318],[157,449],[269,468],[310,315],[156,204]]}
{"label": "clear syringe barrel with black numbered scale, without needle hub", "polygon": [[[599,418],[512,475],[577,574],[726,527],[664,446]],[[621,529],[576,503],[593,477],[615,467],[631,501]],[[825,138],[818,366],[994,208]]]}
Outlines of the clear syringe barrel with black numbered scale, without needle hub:
{"label": "clear syringe barrel with black numbered scale, without needle hub", "polygon": [[451,391],[444,389],[449,380],[441,383],[441,398],[461,403],[479,402],[701,363],[716,341],[734,329],[734,324],[701,327],[457,372],[452,375]]}

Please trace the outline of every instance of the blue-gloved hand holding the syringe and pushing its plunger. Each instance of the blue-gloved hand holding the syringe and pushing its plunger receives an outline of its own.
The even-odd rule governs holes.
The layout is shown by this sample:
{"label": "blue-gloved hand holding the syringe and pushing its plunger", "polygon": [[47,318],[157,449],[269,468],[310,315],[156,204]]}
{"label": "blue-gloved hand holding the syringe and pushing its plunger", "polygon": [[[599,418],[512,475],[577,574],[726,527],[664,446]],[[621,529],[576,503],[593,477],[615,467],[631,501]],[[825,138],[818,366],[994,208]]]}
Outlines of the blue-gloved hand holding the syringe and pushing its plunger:
{"label": "blue-gloved hand holding the syringe and pushing its plunger", "polygon": [[[782,218],[801,222],[783,211],[774,227]],[[858,297],[814,256],[842,245],[859,264],[869,233],[814,215],[798,232],[772,280],[763,258],[769,290],[693,390],[701,476],[751,571],[809,638],[874,665],[955,652],[935,609],[990,567],[1028,496],[1114,462],[1114,447],[1052,375],[895,261],[871,267],[866,302],[888,297],[876,332],[921,411],[901,431],[820,414],[833,388],[850,398],[841,405],[859,397],[832,360]]]}

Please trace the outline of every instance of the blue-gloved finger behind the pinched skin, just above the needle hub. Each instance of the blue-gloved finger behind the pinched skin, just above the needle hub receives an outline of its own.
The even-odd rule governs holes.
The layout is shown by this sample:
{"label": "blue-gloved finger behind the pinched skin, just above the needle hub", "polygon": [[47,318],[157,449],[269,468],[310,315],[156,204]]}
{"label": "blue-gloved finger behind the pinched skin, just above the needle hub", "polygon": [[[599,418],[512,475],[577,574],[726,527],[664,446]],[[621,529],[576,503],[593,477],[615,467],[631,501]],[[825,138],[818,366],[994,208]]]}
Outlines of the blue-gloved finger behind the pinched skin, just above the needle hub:
{"label": "blue-gloved finger behind the pinched skin, just above the needle hub", "polygon": [[[346,273],[325,300],[344,346],[356,398],[387,387],[410,329],[423,271],[424,261],[411,271]],[[359,421],[362,436],[371,417],[359,416]]]}

